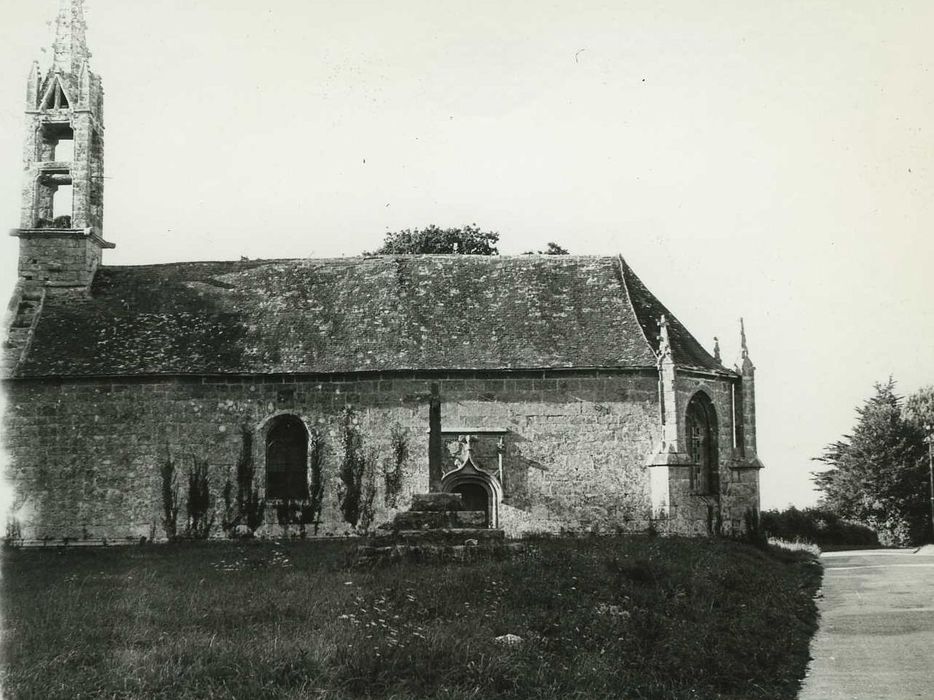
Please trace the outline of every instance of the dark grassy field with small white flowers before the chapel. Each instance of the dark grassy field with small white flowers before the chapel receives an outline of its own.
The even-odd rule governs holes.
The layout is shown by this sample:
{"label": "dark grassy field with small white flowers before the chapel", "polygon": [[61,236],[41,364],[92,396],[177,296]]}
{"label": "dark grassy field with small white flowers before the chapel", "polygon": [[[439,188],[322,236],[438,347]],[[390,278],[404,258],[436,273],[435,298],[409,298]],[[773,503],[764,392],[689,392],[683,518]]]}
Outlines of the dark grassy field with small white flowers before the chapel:
{"label": "dark grassy field with small white flowers before the chapel", "polygon": [[816,626],[805,553],[618,537],[358,570],[353,547],[5,551],[4,697],[794,698]]}

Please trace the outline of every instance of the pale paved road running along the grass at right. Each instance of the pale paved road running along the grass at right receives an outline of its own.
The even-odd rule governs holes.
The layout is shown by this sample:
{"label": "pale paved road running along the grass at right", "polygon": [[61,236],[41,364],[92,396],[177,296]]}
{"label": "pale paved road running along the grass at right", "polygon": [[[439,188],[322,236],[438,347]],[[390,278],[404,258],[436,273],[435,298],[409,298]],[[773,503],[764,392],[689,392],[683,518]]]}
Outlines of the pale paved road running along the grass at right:
{"label": "pale paved road running along the grass at right", "polygon": [[800,700],[934,699],[934,547],[828,552]]}

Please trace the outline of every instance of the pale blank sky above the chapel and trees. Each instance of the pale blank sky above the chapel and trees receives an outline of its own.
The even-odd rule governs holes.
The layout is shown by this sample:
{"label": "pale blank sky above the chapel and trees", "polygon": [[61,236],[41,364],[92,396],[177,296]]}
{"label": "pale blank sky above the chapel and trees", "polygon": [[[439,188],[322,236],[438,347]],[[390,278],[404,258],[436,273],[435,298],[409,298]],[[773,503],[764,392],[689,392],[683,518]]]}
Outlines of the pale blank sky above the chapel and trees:
{"label": "pale blank sky above the chapel and trees", "polygon": [[[57,0],[0,0],[0,227]],[[764,507],[934,382],[934,4],[87,0],[106,264],[331,257],[476,222],[622,253],[758,368]],[[46,52],[40,49],[45,47]],[[0,241],[0,296],[17,241]]]}

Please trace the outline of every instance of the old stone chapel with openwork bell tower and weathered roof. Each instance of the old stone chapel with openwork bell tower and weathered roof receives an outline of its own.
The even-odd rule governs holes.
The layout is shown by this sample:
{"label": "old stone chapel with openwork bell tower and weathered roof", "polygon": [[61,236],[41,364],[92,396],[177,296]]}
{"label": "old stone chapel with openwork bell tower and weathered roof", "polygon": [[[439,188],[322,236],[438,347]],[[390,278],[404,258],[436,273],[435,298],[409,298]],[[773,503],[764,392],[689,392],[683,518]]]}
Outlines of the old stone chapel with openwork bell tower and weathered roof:
{"label": "old stone chapel with openwork bell tower and weathered roof", "polygon": [[259,536],[360,532],[429,488],[508,536],[743,529],[762,467],[745,332],[725,367],[620,256],[103,265],[82,4],[62,0],[26,90],[8,535],[161,540],[167,493],[181,531],[200,474],[224,537],[244,469]]}

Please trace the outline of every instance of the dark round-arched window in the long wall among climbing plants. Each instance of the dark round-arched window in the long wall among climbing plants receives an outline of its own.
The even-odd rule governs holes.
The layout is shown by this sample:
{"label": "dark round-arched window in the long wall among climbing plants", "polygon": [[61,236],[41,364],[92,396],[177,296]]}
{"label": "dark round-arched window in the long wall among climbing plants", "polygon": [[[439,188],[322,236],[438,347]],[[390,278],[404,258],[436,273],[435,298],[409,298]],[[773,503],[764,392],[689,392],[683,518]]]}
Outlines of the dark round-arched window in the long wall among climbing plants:
{"label": "dark round-arched window in the long wall among climbing plants", "polygon": [[266,497],[308,498],[308,430],[296,416],[279,416],[266,433]]}

